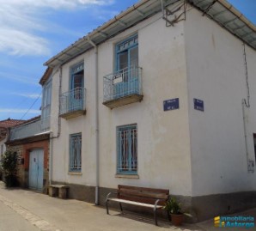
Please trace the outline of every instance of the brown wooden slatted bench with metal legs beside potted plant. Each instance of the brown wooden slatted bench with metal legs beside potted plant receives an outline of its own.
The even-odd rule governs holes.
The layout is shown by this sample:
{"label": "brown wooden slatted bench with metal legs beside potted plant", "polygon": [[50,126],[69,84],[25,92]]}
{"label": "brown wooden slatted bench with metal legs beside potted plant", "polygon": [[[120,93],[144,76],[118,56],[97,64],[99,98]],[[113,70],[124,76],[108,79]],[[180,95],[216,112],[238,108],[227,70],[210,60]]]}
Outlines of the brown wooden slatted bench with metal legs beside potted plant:
{"label": "brown wooden slatted bench with metal legs beside potted plant", "polygon": [[118,186],[118,191],[114,193],[117,197],[111,197],[113,193],[114,192],[108,193],[106,198],[107,214],[109,214],[108,202],[110,201],[119,203],[121,211],[123,211],[122,204],[143,206],[154,211],[155,225],[157,225],[156,211],[162,209],[169,198],[168,189],[155,189],[128,185]]}

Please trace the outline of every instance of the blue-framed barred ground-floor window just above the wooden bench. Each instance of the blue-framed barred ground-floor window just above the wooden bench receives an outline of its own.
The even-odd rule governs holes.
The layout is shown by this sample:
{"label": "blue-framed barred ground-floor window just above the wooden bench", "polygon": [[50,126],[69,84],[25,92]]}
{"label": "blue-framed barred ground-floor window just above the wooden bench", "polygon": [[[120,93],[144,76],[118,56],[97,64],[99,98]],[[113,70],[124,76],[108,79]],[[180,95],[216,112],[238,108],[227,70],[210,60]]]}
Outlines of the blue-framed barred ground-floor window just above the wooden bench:
{"label": "blue-framed barred ground-floor window just above the wooden bench", "polygon": [[137,125],[117,128],[117,173],[137,174]]}

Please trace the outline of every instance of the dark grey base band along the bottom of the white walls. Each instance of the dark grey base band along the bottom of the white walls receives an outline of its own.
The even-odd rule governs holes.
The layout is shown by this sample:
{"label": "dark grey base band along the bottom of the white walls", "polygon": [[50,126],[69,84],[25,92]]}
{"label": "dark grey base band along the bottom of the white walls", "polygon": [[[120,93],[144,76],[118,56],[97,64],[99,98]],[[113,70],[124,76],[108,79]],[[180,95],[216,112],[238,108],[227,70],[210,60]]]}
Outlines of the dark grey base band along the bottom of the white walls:
{"label": "dark grey base band along the bottom of the white walls", "polygon": [[[66,184],[64,182],[52,182],[52,184],[61,184],[70,186],[68,198],[95,203],[95,187],[88,185]],[[105,200],[109,192],[116,192],[112,188],[99,188],[99,203],[105,206]],[[174,195],[182,205],[186,213],[185,222],[201,222],[214,216],[229,215],[231,213],[248,210],[256,207],[256,191],[243,191],[227,194],[207,195],[201,197],[185,197]],[[119,204],[110,203],[110,208],[119,210]],[[153,216],[152,210],[124,204],[124,210],[143,213]],[[158,216],[167,218],[166,211],[159,210]]]}

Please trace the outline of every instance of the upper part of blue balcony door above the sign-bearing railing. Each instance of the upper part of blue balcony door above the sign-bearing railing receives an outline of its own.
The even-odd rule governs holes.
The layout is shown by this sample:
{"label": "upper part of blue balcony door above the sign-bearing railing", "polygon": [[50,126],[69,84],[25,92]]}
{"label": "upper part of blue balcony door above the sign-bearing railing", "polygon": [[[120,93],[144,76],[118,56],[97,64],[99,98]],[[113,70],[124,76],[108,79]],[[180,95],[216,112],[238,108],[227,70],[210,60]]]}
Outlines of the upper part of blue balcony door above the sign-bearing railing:
{"label": "upper part of blue balcony door above the sign-bearing railing", "polygon": [[124,70],[138,66],[137,34],[116,45],[116,70]]}

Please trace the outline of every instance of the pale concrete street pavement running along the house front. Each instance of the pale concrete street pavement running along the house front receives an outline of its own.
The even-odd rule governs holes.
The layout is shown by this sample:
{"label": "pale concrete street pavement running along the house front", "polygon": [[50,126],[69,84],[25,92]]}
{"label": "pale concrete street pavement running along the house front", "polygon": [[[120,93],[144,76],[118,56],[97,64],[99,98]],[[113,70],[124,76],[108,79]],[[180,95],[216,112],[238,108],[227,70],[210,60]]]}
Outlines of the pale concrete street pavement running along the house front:
{"label": "pale concrete street pavement running along the house front", "polygon": [[[119,230],[119,231],[204,231],[220,230],[213,227],[213,220],[197,224],[184,224],[180,228],[168,221],[159,222],[156,227],[152,217],[138,216],[131,213],[120,215],[119,212],[73,199],[62,200],[47,195],[19,188],[6,189],[0,182],[0,230],[1,231],[83,231],[83,230]],[[241,216],[256,217],[256,209],[241,213]],[[9,227],[9,228],[8,228]],[[221,228],[221,230],[238,230]],[[240,228],[239,230],[248,230]],[[255,228],[250,228],[256,230]]]}

